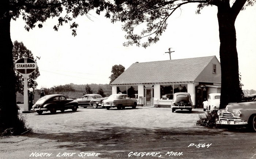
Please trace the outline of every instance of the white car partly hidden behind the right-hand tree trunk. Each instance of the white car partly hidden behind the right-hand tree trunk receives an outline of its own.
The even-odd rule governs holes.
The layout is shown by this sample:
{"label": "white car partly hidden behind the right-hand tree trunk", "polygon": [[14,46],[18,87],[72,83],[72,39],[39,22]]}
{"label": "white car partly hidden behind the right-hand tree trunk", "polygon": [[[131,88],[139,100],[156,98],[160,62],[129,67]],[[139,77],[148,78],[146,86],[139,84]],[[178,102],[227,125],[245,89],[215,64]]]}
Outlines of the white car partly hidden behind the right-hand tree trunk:
{"label": "white car partly hidden behind the right-hand tree trunk", "polygon": [[219,102],[221,99],[220,93],[211,93],[208,95],[207,101],[203,102],[204,111],[209,110],[210,112],[214,110],[219,110]]}

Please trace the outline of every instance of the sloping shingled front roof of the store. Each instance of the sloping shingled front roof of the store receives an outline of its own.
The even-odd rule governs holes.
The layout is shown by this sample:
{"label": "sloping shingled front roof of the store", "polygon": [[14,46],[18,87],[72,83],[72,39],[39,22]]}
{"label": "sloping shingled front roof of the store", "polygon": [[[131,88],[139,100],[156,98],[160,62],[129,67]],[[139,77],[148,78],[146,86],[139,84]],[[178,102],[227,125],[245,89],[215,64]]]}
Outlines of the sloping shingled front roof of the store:
{"label": "sloping shingled front roof of the store", "polygon": [[111,84],[193,82],[215,56],[133,63]]}

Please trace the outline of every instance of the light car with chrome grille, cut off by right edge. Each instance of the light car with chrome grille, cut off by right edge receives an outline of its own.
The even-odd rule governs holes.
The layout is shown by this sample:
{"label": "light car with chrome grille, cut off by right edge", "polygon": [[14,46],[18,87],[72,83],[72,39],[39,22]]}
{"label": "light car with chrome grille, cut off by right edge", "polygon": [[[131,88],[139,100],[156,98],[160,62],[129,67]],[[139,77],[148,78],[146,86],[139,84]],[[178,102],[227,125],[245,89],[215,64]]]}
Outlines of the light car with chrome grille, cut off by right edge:
{"label": "light car with chrome grille, cut off by right edge", "polygon": [[225,109],[217,112],[216,124],[246,125],[256,132],[256,99],[252,102],[230,103]]}

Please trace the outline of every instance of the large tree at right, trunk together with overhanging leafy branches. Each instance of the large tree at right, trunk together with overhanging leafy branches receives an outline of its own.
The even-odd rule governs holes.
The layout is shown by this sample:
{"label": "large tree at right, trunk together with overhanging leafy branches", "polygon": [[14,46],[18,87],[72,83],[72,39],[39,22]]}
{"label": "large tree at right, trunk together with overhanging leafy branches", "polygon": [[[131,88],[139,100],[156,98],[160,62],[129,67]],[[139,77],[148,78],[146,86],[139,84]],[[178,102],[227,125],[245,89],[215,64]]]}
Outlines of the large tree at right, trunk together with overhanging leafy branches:
{"label": "large tree at right, trunk together with overhanging leafy branches", "polygon": [[[166,30],[167,19],[183,5],[196,3],[195,11],[200,14],[202,8],[215,5],[218,8],[221,62],[221,103],[224,108],[230,102],[238,102],[241,97],[238,56],[236,48],[235,21],[237,15],[246,6],[253,5],[256,0],[116,0],[112,12],[112,22],[121,21],[128,39],[124,46],[136,44],[144,48],[156,43]],[[138,26],[142,29],[138,33]],[[140,27],[139,27],[140,28]],[[146,42],[142,42],[147,37]],[[201,45],[200,43],[198,45]]]}

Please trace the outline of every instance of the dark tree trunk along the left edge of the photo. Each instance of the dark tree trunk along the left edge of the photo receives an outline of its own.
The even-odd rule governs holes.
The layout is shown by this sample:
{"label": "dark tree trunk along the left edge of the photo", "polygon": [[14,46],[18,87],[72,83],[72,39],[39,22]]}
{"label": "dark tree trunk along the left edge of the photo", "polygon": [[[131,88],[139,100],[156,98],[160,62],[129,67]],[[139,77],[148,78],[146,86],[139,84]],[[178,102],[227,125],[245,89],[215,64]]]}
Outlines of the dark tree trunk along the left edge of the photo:
{"label": "dark tree trunk along the left edge of the photo", "polygon": [[10,36],[9,0],[0,2],[0,126],[15,128],[17,117],[14,64]]}

